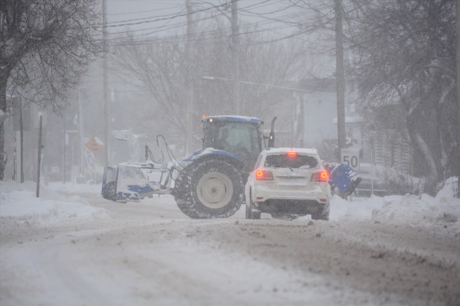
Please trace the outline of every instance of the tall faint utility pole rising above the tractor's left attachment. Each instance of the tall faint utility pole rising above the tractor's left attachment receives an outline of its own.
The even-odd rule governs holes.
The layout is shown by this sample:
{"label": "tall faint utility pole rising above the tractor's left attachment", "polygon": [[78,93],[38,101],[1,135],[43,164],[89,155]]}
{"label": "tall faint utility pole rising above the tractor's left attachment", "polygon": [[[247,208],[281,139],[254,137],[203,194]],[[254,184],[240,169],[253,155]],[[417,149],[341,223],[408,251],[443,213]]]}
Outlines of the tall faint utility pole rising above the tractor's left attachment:
{"label": "tall faint utility pole rising above the tractor's left attachment", "polygon": [[110,104],[107,97],[107,0],[102,1],[102,43],[104,48],[104,57],[102,58],[102,78],[104,91],[104,117],[105,117],[105,165],[110,166]]}

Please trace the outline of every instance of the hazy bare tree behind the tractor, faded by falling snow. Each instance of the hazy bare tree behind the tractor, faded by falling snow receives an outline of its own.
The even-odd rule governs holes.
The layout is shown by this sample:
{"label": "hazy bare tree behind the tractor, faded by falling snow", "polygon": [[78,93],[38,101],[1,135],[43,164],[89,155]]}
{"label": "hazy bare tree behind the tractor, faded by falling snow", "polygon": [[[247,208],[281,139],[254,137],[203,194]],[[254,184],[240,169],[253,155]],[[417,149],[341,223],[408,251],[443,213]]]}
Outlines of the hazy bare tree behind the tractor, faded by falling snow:
{"label": "hazy bare tree behind the tractor, faded by falling snow", "polygon": [[[167,41],[125,37],[115,50],[118,69],[126,71],[125,80],[134,77],[152,97],[150,107],[143,112],[145,119],[155,120],[158,132],[167,130],[168,136],[180,142],[187,130],[188,99],[193,99],[193,122],[199,122],[202,114],[234,114],[231,28],[220,22],[201,28],[198,25],[189,46],[193,96],[186,86],[185,36],[169,37]],[[268,119],[273,116],[273,107],[292,92],[263,85],[286,85],[288,76],[298,67],[301,46],[285,41],[255,43],[264,40],[258,31],[240,29],[240,113]],[[193,126],[194,144],[198,146],[200,125]]]}

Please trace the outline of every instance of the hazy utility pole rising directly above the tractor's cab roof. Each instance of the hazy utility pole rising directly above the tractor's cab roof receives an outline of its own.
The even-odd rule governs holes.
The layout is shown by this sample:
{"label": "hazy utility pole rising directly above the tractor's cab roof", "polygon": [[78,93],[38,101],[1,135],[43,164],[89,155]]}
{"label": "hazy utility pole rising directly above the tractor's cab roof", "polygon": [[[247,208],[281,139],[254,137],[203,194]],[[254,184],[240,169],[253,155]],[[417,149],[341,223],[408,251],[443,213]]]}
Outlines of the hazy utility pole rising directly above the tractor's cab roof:
{"label": "hazy utility pole rising directly above the tractor's cab roof", "polygon": [[237,0],[232,1],[232,63],[233,63],[233,99],[234,108],[237,115],[240,114],[240,56],[239,56],[240,38],[238,33],[238,5]]}

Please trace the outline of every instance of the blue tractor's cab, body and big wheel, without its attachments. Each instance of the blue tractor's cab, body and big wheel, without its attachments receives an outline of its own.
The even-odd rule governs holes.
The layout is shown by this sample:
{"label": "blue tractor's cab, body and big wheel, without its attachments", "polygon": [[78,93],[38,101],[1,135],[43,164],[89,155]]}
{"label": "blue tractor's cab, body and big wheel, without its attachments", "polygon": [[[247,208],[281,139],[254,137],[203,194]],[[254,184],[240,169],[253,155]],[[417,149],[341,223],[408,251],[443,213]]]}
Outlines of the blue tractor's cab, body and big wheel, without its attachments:
{"label": "blue tractor's cab, body and big wheel, without its attachments", "polygon": [[[268,146],[273,146],[273,118]],[[244,185],[262,151],[263,121],[243,116],[209,116],[203,147],[184,160],[172,194],[177,206],[195,219],[226,218],[243,202]]]}

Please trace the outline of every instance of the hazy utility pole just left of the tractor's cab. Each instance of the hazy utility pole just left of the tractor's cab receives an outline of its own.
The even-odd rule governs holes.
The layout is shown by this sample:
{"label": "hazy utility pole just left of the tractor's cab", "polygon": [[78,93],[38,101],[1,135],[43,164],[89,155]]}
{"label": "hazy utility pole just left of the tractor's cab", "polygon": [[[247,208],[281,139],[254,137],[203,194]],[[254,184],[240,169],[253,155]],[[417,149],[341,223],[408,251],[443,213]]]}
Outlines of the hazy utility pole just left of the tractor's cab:
{"label": "hazy utility pole just left of the tractor's cab", "polygon": [[193,82],[192,82],[192,56],[190,52],[190,43],[192,41],[193,35],[193,8],[192,4],[189,0],[186,1],[187,5],[187,46],[186,46],[186,53],[187,53],[187,116],[186,116],[186,124],[187,124],[187,139],[186,139],[186,149],[185,154],[186,156],[190,153],[190,145],[192,143],[193,137],[193,124],[192,124],[192,113],[193,113]]}

